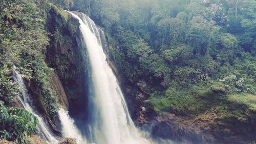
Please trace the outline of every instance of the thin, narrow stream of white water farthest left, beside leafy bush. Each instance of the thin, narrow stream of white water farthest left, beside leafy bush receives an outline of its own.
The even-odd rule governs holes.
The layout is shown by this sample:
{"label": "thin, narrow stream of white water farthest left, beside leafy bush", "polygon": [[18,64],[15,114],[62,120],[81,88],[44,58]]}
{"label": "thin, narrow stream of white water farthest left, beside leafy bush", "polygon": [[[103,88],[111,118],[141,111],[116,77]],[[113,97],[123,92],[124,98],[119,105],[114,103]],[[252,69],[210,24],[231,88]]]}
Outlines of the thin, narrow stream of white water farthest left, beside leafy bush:
{"label": "thin, narrow stream of white water farthest left, beside leafy bush", "polygon": [[14,72],[13,72],[13,79],[14,81],[18,84],[19,87],[22,88],[22,95],[18,96],[18,99],[20,102],[22,102],[23,107],[30,113],[32,113],[34,116],[37,117],[38,119],[38,124],[37,124],[37,130],[38,130],[38,135],[42,138],[47,140],[48,143],[58,143],[58,140],[53,136],[51,131],[48,128],[48,125],[46,124],[45,120],[40,117],[35,110],[31,107],[31,99],[28,93],[28,90],[25,86],[24,80],[20,74],[18,74],[15,71],[14,67]]}

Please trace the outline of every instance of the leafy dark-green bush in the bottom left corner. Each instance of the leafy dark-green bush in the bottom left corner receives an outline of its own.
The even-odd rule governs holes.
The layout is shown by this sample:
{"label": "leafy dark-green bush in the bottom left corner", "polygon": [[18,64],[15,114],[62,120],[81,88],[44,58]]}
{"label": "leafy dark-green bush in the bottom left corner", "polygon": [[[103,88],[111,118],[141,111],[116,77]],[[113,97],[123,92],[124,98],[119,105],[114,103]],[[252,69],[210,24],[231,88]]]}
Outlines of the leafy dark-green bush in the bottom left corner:
{"label": "leafy dark-green bush in the bottom left corner", "polygon": [[16,143],[29,143],[28,137],[36,131],[38,120],[28,111],[6,108],[0,101],[0,138]]}

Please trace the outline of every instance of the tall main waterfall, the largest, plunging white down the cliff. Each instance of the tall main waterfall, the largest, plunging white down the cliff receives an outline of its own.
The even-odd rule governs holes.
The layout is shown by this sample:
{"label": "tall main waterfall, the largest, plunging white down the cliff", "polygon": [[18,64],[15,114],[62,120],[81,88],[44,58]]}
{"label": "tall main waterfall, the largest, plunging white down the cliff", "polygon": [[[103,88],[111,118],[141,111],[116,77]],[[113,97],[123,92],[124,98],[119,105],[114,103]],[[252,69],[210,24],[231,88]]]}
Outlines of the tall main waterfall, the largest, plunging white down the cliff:
{"label": "tall main waterfall, the largest, plunging white down the cliff", "polygon": [[[97,144],[149,144],[139,131],[126,106],[117,78],[106,61],[102,47],[103,31],[87,15],[69,12],[79,20],[80,31],[89,55],[94,101],[94,124],[90,135]],[[79,15],[79,16],[78,16]]]}

